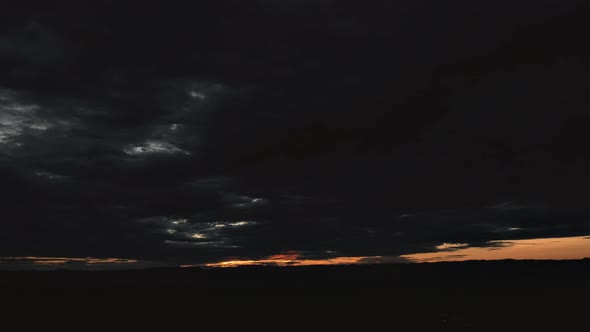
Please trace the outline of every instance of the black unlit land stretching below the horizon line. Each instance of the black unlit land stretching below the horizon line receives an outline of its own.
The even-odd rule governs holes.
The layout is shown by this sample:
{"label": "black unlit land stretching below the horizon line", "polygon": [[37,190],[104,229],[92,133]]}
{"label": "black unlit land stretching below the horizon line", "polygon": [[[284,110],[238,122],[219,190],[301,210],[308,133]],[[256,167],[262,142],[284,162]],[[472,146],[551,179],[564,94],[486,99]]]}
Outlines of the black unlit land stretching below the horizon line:
{"label": "black unlit land stretching below the horizon line", "polygon": [[586,331],[589,281],[590,260],[474,261],[5,271],[0,273],[0,292],[3,304],[21,313],[59,308],[65,316],[82,311],[99,317],[97,321],[110,317],[106,312],[117,312],[144,323],[165,318],[243,328],[278,319],[301,329],[327,324],[361,331],[395,331],[401,326]]}

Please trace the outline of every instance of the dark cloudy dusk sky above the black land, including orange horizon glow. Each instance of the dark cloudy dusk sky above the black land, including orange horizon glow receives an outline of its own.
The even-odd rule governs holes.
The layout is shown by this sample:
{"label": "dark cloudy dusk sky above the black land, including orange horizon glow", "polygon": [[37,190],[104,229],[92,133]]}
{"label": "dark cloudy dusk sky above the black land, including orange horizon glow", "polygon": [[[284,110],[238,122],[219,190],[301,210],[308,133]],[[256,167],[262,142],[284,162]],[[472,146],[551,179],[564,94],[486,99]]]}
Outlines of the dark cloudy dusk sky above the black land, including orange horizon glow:
{"label": "dark cloudy dusk sky above the black land, including orange horizon glow", "polygon": [[414,262],[584,242],[589,6],[12,4],[0,268]]}

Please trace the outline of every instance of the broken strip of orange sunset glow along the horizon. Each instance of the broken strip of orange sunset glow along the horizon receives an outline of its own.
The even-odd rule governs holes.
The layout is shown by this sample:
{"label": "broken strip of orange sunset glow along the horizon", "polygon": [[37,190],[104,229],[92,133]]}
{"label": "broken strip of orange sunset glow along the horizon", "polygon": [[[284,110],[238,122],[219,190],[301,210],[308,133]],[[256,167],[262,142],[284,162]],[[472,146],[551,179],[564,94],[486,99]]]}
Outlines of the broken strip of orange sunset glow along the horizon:
{"label": "broken strip of orange sunset glow along the horizon", "polygon": [[[468,260],[575,260],[590,258],[590,237],[538,238],[527,240],[490,241],[488,246],[469,247],[467,243],[442,243],[436,251],[397,256],[342,256],[322,259],[305,258],[302,252],[285,251],[261,259],[232,257],[225,261],[209,264],[181,265],[180,267],[226,268],[239,266],[314,266],[354,265],[379,263],[434,263]],[[0,257],[0,264],[21,266],[31,264],[38,267],[104,267],[133,265],[140,263],[126,258],[94,257]],[[18,265],[12,265],[12,264]],[[142,262],[143,264],[143,262]],[[139,265],[135,265],[139,266]]]}

